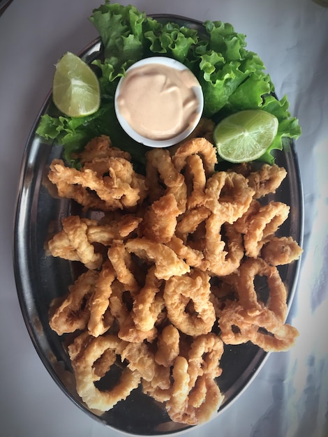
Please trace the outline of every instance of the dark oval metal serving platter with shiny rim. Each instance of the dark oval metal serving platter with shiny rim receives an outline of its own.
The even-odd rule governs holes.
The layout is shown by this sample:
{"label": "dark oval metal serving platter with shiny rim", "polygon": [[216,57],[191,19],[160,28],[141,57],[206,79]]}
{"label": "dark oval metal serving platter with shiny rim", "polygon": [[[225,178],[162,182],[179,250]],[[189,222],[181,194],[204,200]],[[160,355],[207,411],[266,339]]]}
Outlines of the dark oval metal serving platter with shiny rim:
{"label": "dark oval metal serving platter with shiny rim", "polygon": [[[202,33],[202,23],[175,15],[152,15],[161,22],[174,21]],[[81,53],[82,59],[90,63],[100,56],[100,40],[94,40]],[[178,434],[186,431],[187,425],[173,423],[165,408],[150,397],[135,390],[126,401],[117,404],[102,415],[89,410],[75,390],[75,380],[66,352],[69,336],[59,337],[50,329],[48,311],[52,299],[66,294],[75,274],[71,262],[47,256],[45,241],[51,232],[61,228],[61,218],[75,212],[69,200],[54,198],[47,181],[50,162],[60,158],[62,147],[41,140],[36,135],[40,117],[47,114],[52,105],[51,94],[38,114],[27,140],[22,161],[14,228],[14,267],[17,292],[22,315],[33,344],[55,382],[76,405],[99,422],[112,429],[128,434],[157,436]],[[284,150],[276,156],[276,163],[288,171],[275,195],[278,200],[290,205],[290,216],[281,227],[283,235],[291,235],[301,244],[303,232],[303,203],[301,181],[295,145],[292,140],[285,143]],[[299,261],[279,268],[283,282],[288,288],[288,306],[297,287]],[[268,354],[258,346],[246,343],[225,347],[221,360],[223,375],[219,385],[225,400],[218,415],[224,413],[258,374]]]}

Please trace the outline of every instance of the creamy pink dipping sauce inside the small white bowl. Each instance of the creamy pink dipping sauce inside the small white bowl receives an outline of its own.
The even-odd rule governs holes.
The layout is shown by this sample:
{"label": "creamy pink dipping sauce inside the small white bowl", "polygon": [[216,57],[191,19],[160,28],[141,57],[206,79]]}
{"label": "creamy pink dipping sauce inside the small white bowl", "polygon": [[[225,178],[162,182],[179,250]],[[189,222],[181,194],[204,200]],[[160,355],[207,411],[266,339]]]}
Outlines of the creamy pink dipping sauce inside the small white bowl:
{"label": "creamy pink dipping sauce inside the small white bowl", "polygon": [[133,130],[151,140],[167,140],[195,123],[199,87],[189,70],[145,64],[128,71],[117,104]]}

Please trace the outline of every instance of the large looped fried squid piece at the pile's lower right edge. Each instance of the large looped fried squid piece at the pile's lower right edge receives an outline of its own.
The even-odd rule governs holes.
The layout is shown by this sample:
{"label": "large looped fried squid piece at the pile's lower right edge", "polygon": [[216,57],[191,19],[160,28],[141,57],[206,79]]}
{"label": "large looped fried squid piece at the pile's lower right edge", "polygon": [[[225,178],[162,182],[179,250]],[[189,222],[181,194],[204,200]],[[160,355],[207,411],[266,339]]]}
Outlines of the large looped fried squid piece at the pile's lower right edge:
{"label": "large looped fried squid piece at the pile's lower right edge", "polygon": [[[269,297],[258,296],[255,276],[265,276]],[[248,258],[239,269],[238,297],[228,302],[219,313],[221,338],[227,344],[251,341],[267,351],[287,350],[298,336],[297,329],[285,324],[287,291],[278,269],[264,260]]]}

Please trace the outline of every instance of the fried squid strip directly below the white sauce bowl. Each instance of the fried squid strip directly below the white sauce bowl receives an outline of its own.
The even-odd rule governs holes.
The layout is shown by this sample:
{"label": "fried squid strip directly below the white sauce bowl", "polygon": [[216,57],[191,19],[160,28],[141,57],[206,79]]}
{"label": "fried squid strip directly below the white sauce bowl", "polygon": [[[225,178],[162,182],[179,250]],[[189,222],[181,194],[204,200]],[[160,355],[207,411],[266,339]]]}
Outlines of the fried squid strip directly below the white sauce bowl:
{"label": "fried squid strip directly below the white sauce bowl", "polygon": [[[177,200],[179,211],[184,212],[186,210],[186,183],[184,182],[184,176],[174,167],[170,151],[152,149],[147,152],[147,184],[151,187],[151,191],[154,185],[158,198],[164,194],[173,194]],[[164,186],[164,191],[161,191],[161,186]],[[153,196],[153,201],[158,200],[158,198]]]}

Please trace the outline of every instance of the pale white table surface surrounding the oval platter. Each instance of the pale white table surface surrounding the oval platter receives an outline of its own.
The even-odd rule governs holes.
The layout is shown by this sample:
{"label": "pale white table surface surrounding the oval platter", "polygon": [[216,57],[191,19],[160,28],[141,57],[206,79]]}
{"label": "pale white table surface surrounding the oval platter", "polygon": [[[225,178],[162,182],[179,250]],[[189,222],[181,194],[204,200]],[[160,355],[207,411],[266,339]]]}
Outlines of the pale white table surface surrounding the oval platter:
{"label": "pale white table surface surrounding the oval platter", "polygon": [[[128,4],[127,1],[121,1]],[[222,20],[247,35],[287,94],[303,134],[304,255],[290,322],[297,345],[269,356],[257,378],[216,420],[189,437],[327,437],[328,8],[311,0],[135,0],[146,13]],[[14,0],[0,17],[0,435],[119,437],[75,406],[41,363],[24,325],[13,274],[13,216],[29,131],[64,52],[98,36],[98,0]]]}

